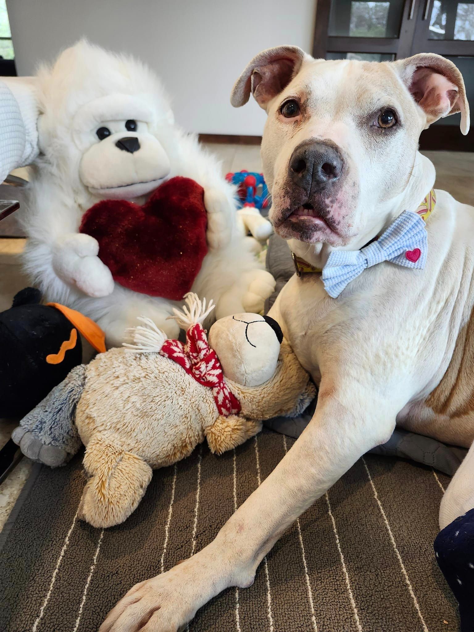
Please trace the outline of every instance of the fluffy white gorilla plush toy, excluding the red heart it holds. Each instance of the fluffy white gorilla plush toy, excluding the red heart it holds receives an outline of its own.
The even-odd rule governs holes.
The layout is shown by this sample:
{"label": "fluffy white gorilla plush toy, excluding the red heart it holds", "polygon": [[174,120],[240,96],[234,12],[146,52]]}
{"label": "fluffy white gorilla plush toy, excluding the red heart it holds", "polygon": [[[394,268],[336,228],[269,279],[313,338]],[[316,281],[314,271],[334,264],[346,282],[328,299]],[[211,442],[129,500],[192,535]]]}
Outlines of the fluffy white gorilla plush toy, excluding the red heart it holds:
{"label": "fluffy white gorilla plush toy, excluding the red heart it holds", "polygon": [[143,204],[162,182],[185,176],[204,189],[207,212],[207,254],[191,290],[214,300],[217,319],[262,310],[274,279],[236,226],[234,189],[197,139],[174,125],[147,66],[81,41],[40,69],[36,96],[40,155],[21,219],[25,265],[47,300],[94,319],[107,346],[121,344],[137,316],[178,337],[176,321],[167,320],[178,302],[115,283],[99,243],[79,226],[100,200]]}

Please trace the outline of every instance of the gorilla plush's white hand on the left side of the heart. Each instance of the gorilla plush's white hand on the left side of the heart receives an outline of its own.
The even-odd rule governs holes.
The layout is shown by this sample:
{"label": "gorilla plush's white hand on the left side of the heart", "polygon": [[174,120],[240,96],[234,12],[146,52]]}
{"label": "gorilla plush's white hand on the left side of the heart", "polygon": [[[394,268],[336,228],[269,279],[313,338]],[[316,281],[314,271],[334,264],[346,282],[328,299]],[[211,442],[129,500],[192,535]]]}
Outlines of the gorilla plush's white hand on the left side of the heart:
{"label": "gorilla plush's white hand on the left side of the heart", "polygon": [[95,298],[108,296],[114,289],[114,279],[98,253],[99,243],[94,237],[66,234],[53,249],[52,267],[60,279],[84,294]]}

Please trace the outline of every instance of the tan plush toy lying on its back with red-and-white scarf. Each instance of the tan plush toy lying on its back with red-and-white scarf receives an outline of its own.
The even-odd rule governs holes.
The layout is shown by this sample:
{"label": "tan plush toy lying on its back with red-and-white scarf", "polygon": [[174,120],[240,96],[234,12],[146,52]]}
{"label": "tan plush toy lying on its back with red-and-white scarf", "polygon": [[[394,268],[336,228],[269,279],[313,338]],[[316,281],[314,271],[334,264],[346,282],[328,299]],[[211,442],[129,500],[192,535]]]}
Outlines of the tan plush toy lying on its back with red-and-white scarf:
{"label": "tan plush toy lying on its back with red-and-white scarf", "polygon": [[174,319],[186,344],[149,319],[134,344],[100,353],[68,377],[13,432],[24,454],[63,465],[86,446],[89,478],[79,515],[93,526],[123,522],[136,509],[152,468],[176,463],[207,439],[221,454],[259,432],[262,420],[305,410],[315,387],[273,319],[241,313],[209,332],[195,295]]}

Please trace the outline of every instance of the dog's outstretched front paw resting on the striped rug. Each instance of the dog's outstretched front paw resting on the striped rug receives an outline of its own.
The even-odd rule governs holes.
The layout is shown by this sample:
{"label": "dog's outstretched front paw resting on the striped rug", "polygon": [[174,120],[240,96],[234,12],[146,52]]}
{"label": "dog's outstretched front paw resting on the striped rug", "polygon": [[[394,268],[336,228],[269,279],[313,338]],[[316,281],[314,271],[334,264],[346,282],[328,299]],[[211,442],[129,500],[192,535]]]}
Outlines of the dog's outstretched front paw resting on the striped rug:
{"label": "dog's outstretched front paw resting on the striped rug", "polygon": [[210,584],[199,581],[193,558],[185,560],[133,586],[109,612],[99,632],[181,632],[214,596]]}

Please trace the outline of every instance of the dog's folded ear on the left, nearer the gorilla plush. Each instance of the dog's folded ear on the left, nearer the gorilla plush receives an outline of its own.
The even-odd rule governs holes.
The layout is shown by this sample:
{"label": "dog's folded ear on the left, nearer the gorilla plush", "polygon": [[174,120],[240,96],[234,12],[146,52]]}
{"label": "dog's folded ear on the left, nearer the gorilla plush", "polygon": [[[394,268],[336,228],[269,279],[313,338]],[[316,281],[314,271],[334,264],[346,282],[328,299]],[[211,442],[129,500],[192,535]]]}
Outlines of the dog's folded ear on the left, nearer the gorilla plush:
{"label": "dog's folded ear on the left, nearer the gorilla plush", "polygon": [[298,73],[305,58],[312,59],[298,46],[277,46],[259,52],[235,82],[231,104],[245,105],[252,92],[258,105],[265,109]]}

